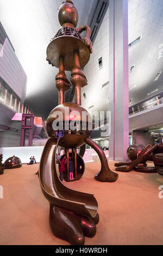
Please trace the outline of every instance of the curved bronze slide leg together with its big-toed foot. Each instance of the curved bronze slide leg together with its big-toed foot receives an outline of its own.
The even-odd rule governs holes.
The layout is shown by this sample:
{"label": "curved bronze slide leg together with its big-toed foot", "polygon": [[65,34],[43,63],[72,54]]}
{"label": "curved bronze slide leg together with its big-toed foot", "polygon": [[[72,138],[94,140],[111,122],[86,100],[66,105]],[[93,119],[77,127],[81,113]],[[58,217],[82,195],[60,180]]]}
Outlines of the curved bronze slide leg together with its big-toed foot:
{"label": "curved bronze slide leg together with its big-toed foot", "polygon": [[93,219],[97,218],[98,204],[92,194],[73,191],[62,184],[56,168],[58,145],[55,138],[49,138],[43,150],[39,170],[41,189],[50,203],[53,233],[72,245],[83,245],[84,236],[96,233]]}

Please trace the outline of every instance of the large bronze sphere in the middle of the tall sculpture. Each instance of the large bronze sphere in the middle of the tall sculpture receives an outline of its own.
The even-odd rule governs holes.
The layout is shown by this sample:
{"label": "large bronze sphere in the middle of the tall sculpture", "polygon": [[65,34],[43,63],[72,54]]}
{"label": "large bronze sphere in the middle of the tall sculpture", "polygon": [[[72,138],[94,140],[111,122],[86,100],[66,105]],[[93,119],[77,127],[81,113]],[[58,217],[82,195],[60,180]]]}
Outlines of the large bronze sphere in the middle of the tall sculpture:
{"label": "large bronze sphere in the middle of the tall sculpture", "polygon": [[[68,113],[65,112],[65,109],[68,109]],[[79,115],[73,115],[74,111],[78,112]],[[85,120],[85,129],[82,130],[82,113],[85,112],[87,114]],[[59,117],[58,113],[62,114],[62,118]],[[55,117],[54,117],[55,114]],[[66,115],[67,114],[67,115]],[[57,120],[62,123],[62,130],[54,130],[53,122]],[[71,127],[67,130],[65,129],[66,122],[70,126],[71,121],[76,122],[76,124],[80,124],[80,129],[76,129],[74,131],[71,130]],[[89,138],[92,132],[92,129],[89,129],[89,124],[92,121],[90,114],[86,111],[85,108],[77,105],[76,103],[64,103],[63,105],[59,105],[55,107],[52,112],[49,114],[47,119],[47,133],[49,137],[57,138],[58,133],[61,132],[60,139],[60,147],[62,148],[79,148],[85,143],[85,139]],[[59,123],[58,123],[59,124]]]}

